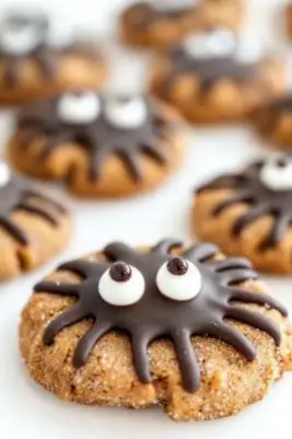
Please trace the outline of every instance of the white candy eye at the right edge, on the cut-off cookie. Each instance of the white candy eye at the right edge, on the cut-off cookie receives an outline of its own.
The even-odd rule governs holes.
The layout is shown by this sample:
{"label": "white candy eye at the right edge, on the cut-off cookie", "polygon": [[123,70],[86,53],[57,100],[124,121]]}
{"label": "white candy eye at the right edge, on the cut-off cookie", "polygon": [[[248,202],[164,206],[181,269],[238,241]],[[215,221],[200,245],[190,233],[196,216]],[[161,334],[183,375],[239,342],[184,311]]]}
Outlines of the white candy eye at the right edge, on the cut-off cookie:
{"label": "white candy eye at the right edge, on the cut-off cookie", "polygon": [[285,158],[268,161],[261,167],[259,178],[271,190],[291,190],[292,161]]}

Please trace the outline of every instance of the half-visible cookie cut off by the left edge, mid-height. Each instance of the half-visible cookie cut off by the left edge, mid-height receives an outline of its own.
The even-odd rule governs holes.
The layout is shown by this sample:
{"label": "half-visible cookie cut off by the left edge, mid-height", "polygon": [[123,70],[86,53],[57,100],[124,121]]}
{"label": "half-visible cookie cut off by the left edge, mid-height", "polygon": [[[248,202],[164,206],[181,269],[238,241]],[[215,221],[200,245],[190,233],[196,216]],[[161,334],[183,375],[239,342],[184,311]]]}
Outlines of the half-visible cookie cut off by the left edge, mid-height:
{"label": "half-visible cookie cut off by the left edge, mid-height", "polygon": [[0,162],[0,281],[49,261],[71,234],[66,208]]}

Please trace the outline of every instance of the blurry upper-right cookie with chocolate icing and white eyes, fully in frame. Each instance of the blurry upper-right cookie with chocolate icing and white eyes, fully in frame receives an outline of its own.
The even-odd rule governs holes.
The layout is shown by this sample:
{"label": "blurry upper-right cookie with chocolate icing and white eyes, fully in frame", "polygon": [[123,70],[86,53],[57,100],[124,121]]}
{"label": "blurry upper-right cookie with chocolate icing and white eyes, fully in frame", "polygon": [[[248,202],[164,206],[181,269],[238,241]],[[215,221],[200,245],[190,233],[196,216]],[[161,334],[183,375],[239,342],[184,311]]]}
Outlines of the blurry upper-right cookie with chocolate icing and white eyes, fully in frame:
{"label": "blurry upper-right cookie with chocolate icing and white eyes, fully in frame", "polygon": [[244,119],[284,89],[283,63],[244,60],[225,28],[191,35],[153,60],[153,93],[194,123]]}

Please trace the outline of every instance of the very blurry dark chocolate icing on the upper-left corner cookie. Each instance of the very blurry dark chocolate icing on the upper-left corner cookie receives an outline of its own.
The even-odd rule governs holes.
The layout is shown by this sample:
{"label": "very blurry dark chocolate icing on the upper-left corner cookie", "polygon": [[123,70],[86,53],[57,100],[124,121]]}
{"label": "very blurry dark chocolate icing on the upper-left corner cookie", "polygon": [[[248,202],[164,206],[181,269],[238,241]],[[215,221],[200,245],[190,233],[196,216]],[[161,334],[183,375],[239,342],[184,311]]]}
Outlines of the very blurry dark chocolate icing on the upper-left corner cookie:
{"label": "very blurry dark chocolate icing on the upper-left corner cookie", "polygon": [[9,86],[16,86],[20,83],[22,63],[26,59],[34,60],[44,78],[50,80],[57,74],[57,67],[60,56],[68,54],[80,54],[86,57],[93,57],[93,55],[96,57],[96,54],[94,54],[90,47],[78,43],[73,43],[67,47],[58,49],[52,49],[49,47],[45,41],[46,31],[48,28],[48,20],[43,15],[27,20],[22,18],[22,15],[11,14],[7,20],[13,22],[15,25],[17,23],[21,25],[22,23],[28,21],[32,23],[32,25],[39,27],[39,42],[30,53],[24,55],[14,55],[5,51],[0,45],[0,61],[3,61],[5,65],[3,82]]}

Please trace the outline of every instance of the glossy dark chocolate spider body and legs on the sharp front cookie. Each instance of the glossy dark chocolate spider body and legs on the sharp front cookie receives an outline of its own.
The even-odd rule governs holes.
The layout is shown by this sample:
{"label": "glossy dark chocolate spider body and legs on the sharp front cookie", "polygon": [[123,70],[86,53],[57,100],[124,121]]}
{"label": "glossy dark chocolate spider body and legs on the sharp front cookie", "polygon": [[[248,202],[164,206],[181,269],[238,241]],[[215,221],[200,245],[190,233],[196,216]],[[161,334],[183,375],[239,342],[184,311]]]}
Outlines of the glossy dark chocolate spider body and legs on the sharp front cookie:
{"label": "glossy dark chocolate spider body and legs on the sharp front cookie", "polygon": [[[79,340],[74,353],[73,366],[80,368],[104,334],[110,331],[125,332],[131,339],[136,372],[142,382],[148,383],[151,382],[149,344],[159,337],[167,337],[174,344],[183,385],[189,392],[200,385],[200,370],[191,336],[219,338],[233,346],[246,360],[256,358],[253,344],[225,319],[265,331],[279,346],[280,327],[267,316],[238,307],[235,302],[276,309],[283,316],[287,316],[285,309],[271,297],[237,287],[240,282],[256,279],[257,273],[243,258],[214,261],[219,249],[212,244],[198,244],[180,254],[199,269],[202,277],[199,294],[185,302],[165,298],[156,287],[156,274],[165,262],[174,257],[171,252],[178,246],[182,247],[182,243],[165,240],[152,250],[140,253],[122,243],[113,243],[104,249],[106,262],[77,259],[61,265],[59,270],[79,275],[80,284],[43,281],[36,285],[35,292],[71,296],[77,301],[47,325],[44,344],[50,346],[65,327],[84,319],[92,320],[92,327]],[[108,304],[98,294],[101,276],[117,261],[138,268],[145,280],[145,291],[140,301],[124,308]]]}

